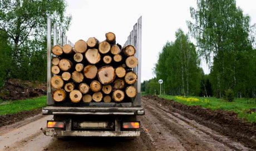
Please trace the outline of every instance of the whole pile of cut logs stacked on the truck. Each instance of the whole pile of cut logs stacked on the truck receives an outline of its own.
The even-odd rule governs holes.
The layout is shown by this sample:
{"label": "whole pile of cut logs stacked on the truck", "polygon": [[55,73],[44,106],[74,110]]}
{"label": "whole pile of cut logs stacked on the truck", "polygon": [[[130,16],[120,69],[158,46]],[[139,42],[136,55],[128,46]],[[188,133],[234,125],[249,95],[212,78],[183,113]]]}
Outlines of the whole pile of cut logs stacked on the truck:
{"label": "whole pile of cut logs stacked on the truck", "polygon": [[114,33],[106,33],[105,41],[95,37],[78,40],[72,48],[52,47],[52,97],[55,102],[124,102],[135,98],[133,72],[138,64],[135,47],[124,48]]}

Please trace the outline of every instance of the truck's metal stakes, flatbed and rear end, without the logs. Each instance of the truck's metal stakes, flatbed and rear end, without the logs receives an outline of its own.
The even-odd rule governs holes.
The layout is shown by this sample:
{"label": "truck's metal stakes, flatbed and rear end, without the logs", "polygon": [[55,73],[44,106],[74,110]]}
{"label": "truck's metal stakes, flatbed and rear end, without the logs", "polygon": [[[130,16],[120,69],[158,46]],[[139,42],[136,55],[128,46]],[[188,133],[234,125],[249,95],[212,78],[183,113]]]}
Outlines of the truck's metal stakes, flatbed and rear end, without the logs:
{"label": "truck's metal stakes, flatbed and rear end, without the logs", "polygon": [[[141,107],[141,23],[140,17],[130,32],[124,46],[129,44],[136,48],[135,57],[138,66],[134,68],[137,74],[137,95],[132,102],[104,103],[91,102],[82,106],[57,106],[51,94],[51,19],[47,19],[47,107],[42,114],[53,115],[53,120],[47,121],[43,133],[54,137],[84,136],[84,137],[137,137],[140,136],[140,122],[137,115],[144,115]],[[67,37],[60,31],[60,45],[67,42]],[[57,27],[53,26],[53,46],[57,44]]]}

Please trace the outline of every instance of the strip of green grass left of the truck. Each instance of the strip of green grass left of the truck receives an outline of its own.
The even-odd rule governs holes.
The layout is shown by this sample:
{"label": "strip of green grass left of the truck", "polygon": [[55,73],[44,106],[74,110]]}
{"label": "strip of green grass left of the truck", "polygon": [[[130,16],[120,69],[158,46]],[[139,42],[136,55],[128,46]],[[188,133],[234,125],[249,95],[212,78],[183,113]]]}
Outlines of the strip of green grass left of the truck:
{"label": "strip of green grass left of the truck", "polygon": [[33,110],[46,106],[46,96],[24,99],[3,101],[0,100],[0,115],[14,114],[21,111]]}

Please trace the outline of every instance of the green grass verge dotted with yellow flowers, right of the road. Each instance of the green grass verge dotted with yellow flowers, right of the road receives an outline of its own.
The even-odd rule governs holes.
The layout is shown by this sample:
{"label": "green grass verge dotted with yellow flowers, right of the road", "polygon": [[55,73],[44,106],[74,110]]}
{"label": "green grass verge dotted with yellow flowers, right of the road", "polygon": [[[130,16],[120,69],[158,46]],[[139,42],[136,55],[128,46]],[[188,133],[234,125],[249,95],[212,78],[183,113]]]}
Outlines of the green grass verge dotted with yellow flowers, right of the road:
{"label": "green grass verge dotted with yellow flowers, right of the road", "polygon": [[[185,105],[199,105],[203,108],[209,108],[212,110],[221,109],[233,111],[238,114],[239,118],[245,119],[251,123],[256,122],[256,112],[249,112],[250,109],[256,108],[255,100],[246,100],[244,98],[234,99],[233,102],[227,102],[226,100],[217,99],[214,97],[204,98],[204,97],[186,97],[186,100],[180,99],[179,97],[170,95],[161,95],[161,98],[173,99],[176,102],[183,103]],[[197,98],[198,100],[194,100]],[[191,100],[191,101],[190,101]]]}

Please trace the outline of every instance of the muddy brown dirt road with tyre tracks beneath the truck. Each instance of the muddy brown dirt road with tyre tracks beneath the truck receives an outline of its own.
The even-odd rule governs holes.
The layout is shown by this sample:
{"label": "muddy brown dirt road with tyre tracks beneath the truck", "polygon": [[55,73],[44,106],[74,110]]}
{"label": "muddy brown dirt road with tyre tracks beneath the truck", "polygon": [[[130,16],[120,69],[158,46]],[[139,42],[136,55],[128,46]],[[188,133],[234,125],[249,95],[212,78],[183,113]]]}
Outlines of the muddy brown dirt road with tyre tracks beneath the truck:
{"label": "muddy brown dirt road with tyre tracks beneath the truck", "polygon": [[46,137],[40,127],[52,116],[37,115],[0,128],[0,150],[252,150],[154,100],[142,104],[141,137],[134,140]]}

